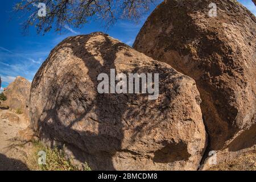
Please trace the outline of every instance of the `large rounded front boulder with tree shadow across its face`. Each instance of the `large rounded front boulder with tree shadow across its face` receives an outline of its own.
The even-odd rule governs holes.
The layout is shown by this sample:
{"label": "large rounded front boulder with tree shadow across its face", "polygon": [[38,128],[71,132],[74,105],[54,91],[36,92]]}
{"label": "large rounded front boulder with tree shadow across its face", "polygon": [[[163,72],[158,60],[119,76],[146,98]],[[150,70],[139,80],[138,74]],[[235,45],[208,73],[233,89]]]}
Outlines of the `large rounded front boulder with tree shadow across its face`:
{"label": "large rounded front boulder with tree shadow across its face", "polygon": [[[159,73],[159,97],[98,93],[110,69]],[[200,101],[192,78],[95,32],[52,50],[32,82],[30,118],[44,143],[65,144],[92,169],[195,170],[205,148]]]}

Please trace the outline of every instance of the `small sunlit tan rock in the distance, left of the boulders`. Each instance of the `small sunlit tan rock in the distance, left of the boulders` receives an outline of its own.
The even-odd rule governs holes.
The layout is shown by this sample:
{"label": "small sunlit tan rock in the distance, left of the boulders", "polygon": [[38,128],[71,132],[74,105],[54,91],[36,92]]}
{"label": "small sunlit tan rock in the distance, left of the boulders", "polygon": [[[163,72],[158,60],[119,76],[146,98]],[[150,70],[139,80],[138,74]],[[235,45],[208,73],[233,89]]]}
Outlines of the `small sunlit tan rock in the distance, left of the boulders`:
{"label": "small sunlit tan rock in the distance, left of the boulders", "polygon": [[4,89],[3,94],[7,97],[1,106],[8,106],[10,109],[19,110],[28,119],[28,102],[30,98],[31,83],[23,77],[16,77],[14,82],[11,82],[7,88]]}

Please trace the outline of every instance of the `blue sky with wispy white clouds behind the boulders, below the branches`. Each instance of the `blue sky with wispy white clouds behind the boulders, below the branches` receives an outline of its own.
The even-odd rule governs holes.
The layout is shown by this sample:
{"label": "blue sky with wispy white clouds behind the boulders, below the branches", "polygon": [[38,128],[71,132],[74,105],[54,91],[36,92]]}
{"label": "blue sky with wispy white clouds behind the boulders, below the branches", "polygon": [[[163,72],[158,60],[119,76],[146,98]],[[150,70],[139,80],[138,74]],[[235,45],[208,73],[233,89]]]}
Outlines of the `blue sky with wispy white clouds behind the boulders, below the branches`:
{"label": "blue sky with wispy white clouds behind the boulders, below the branches", "polygon": [[[1,1],[0,6],[0,75],[3,88],[8,86],[16,76],[22,76],[32,81],[36,71],[46,60],[51,49],[68,36],[103,31],[131,46],[149,15],[144,15],[138,24],[127,20],[119,20],[109,30],[106,30],[100,22],[92,22],[78,30],[67,27],[61,35],[53,31],[44,36],[36,35],[35,30],[31,28],[30,34],[24,36],[20,27],[22,20],[17,19],[11,12],[17,1]],[[256,7],[251,0],[239,1],[256,15]],[[152,7],[153,9],[154,7]]]}

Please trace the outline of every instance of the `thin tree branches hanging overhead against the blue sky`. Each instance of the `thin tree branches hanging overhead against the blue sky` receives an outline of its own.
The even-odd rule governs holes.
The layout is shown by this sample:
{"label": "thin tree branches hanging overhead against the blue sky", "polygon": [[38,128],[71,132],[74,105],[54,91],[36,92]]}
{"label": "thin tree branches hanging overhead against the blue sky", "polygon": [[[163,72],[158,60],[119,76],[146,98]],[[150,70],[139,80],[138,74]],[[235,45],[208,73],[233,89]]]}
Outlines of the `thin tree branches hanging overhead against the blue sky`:
{"label": "thin tree branches hanging overhead against the blue sky", "polygon": [[[22,11],[24,32],[35,26],[38,34],[52,28],[59,32],[65,26],[81,28],[93,19],[103,20],[106,27],[117,19],[137,21],[159,0],[20,0],[14,10]],[[46,5],[46,16],[38,16],[39,3]],[[24,17],[25,16],[25,17]]]}

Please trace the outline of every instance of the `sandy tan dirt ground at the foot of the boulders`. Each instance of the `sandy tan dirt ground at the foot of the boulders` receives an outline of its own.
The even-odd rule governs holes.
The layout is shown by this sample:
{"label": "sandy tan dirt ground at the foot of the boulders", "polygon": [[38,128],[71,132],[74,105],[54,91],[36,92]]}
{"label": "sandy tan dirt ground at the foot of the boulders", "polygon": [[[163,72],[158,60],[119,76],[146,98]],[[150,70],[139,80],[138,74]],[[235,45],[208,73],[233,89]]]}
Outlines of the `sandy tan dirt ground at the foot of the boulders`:
{"label": "sandy tan dirt ground at the foot of the boulders", "polygon": [[[22,114],[16,114],[19,122],[2,119],[2,115],[14,111],[0,109],[0,171],[24,171],[40,170],[37,164],[37,148],[32,142],[20,142],[15,140],[15,136],[20,130],[28,126],[28,122]],[[220,163],[206,170],[233,171],[233,170],[256,170],[255,150],[245,152],[245,154],[229,162]]]}

